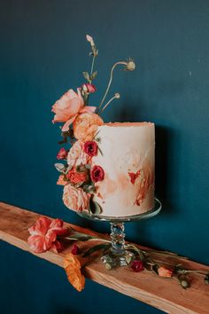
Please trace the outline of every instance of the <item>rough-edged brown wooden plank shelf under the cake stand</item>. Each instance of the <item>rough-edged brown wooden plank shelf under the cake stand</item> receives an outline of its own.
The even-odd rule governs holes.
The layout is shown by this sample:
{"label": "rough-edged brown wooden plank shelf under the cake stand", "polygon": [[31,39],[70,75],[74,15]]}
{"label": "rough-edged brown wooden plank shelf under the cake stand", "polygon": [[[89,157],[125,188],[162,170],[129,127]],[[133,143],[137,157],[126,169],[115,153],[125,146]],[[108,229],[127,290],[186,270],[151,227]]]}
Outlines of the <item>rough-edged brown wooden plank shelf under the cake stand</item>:
{"label": "rough-edged brown wooden plank shelf under the cake stand", "polygon": [[[39,216],[41,215],[0,202],[0,239],[34,254],[27,245],[27,229],[35,223]],[[103,234],[73,224],[66,225],[72,226],[78,232],[104,237]],[[48,251],[34,255],[63,267],[64,256],[70,249],[68,247],[59,254]],[[209,271],[208,266],[200,263],[181,262],[186,263],[186,266],[191,269]],[[127,267],[106,271],[99,258],[85,267],[84,274],[87,278],[105,287],[150,304],[166,313],[209,313],[209,285],[205,285],[200,276],[193,276],[192,287],[184,290],[174,279],[162,279],[147,271],[136,274]]]}

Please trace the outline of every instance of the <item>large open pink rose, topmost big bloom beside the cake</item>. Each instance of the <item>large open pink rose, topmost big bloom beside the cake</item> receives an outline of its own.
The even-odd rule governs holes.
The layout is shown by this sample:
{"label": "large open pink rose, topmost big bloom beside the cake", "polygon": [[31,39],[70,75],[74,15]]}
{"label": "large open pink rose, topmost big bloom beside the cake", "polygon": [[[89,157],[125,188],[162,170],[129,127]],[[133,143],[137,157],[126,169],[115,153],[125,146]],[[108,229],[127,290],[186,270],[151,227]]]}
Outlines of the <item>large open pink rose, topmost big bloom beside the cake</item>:
{"label": "large open pink rose, topmost big bloom beside the cake", "polygon": [[69,125],[74,122],[78,114],[94,113],[95,110],[95,106],[84,106],[80,89],[77,89],[77,93],[74,90],[68,90],[52,106],[51,111],[55,113],[52,122],[66,122],[62,130],[67,131]]}

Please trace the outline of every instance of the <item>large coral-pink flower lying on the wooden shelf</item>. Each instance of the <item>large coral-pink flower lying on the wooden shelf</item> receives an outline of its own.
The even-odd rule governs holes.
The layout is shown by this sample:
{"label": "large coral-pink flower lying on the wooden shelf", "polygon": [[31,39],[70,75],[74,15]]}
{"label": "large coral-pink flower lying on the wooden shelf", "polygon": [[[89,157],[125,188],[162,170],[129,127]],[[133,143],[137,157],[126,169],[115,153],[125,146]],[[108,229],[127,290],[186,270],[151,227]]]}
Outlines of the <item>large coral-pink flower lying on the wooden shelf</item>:
{"label": "large coral-pink flower lying on the wooden shelf", "polygon": [[41,217],[28,229],[28,232],[31,235],[27,239],[27,243],[32,251],[43,253],[51,248],[58,252],[62,249],[62,245],[57,240],[57,236],[66,234],[67,228],[63,227],[61,219],[51,220],[47,217]]}

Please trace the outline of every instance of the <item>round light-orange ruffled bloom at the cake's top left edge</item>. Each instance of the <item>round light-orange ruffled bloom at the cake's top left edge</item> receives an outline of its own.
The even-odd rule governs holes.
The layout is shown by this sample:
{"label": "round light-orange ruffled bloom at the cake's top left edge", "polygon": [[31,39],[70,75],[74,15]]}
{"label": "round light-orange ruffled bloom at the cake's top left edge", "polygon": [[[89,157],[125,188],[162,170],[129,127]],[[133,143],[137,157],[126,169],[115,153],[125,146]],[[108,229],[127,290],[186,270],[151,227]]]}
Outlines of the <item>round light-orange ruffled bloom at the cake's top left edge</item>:
{"label": "round light-orange ruffled bloom at the cake's top left edge", "polygon": [[74,120],[74,137],[82,141],[90,141],[94,138],[97,127],[104,124],[98,114],[79,114]]}

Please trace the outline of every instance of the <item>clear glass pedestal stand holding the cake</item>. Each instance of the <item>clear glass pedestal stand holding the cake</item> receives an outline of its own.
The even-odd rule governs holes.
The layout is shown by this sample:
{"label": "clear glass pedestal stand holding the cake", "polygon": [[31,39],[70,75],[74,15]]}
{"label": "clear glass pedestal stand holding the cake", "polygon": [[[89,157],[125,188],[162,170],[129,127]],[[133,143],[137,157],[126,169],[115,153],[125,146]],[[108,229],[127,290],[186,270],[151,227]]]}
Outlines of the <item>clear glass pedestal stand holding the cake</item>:
{"label": "clear glass pedestal stand holding the cake", "polygon": [[162,208],[161,202],[155,198],[154,207],[151,210],[135,216],[97,216],[89,212],[78,212],[78,215],[93,221],[105,221],[111,224],[111,241],[112,247],[102,256],[102,261],[106,268],[113,268],[116,266],[126,266],[135,257],[134,253],[126,249],[125,242],[125,223],[135,222],[142,219],[148,219],[159,214]]}

